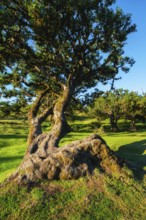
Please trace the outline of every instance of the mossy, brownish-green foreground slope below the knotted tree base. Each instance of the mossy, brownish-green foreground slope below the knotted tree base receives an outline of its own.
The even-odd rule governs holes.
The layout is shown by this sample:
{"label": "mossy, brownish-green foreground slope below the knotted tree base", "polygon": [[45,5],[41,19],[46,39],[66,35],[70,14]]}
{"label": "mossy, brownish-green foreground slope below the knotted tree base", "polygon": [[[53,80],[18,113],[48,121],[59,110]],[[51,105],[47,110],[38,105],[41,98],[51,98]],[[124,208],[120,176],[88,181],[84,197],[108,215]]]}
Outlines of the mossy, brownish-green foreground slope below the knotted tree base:
{"label": "mossy, brownish-green foreground slope below the knotted tree base", "polygon": [[0,193],[0,219],[145,220],[144,186],[96,171],[74,181],[6,185]]}

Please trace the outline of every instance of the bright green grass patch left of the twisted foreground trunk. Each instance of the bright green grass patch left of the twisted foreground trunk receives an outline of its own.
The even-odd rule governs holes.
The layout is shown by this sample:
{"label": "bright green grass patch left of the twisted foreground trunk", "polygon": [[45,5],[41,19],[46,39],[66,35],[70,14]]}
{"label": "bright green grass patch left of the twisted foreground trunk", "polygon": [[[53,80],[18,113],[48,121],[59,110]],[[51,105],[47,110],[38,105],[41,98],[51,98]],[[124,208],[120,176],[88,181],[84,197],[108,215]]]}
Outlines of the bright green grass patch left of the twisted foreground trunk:
{"label": "bright green grass patch left of the twisted foreground trunk", "polygon": [[0,124],[0,182],[20,164],[28,133],[27,125],[6,122]]}

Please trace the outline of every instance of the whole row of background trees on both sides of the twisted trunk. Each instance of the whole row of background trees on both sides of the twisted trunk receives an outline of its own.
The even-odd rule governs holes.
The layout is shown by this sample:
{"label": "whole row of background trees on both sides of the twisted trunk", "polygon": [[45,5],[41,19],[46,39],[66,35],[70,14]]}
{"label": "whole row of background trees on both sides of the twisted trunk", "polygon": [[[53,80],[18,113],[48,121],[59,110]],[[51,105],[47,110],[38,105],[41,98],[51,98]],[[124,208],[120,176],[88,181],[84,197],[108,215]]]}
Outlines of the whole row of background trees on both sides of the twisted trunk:
{"label": "whole row of background trees on both sides of the twisted trunk", "polygon": [[[23,104],[22,104],[23,103]],[[26,100],[1,101],[0,118],[1,119],[27,119],[28,109],[31,103]],[[86,109],[86,111],[85,111]],[[94,94],[90,101],[85,97],[85,101],[74,99],[66,109],[66,116],[73,120],[79,112],[86,112],[91,117],[96,117],[97,126],[102,126],[102,121],[109,119],[110,130],[118,131],[119,122],[128,121],[129,130],[136,130],[136,123],[145,123],[146,120],[146,94],[138,94],[134,91],[116,89],[105,93]],[[130,122],[130,123],[129,123]]]}

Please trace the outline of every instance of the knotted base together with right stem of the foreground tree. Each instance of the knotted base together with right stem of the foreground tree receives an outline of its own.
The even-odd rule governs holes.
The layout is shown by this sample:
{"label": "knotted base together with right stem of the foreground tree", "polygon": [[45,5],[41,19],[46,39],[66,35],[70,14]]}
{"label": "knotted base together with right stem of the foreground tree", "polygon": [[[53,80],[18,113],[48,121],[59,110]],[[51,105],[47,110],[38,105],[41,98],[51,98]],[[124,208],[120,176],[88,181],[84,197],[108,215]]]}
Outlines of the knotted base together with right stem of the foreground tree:
{"label": "knotted base together with right stem of the foreground tree", "polygon": [[70,87],[64,87],[53,109],[54,126],[47,134],[41,133],[34,139],[9,180],[22,183],[44,178],[77,179],[91,174],[95,168],[108,174],[120,172],[121,161],[98,135],[57,148],[60,139],[70,130],[64,114],[70,96]]}

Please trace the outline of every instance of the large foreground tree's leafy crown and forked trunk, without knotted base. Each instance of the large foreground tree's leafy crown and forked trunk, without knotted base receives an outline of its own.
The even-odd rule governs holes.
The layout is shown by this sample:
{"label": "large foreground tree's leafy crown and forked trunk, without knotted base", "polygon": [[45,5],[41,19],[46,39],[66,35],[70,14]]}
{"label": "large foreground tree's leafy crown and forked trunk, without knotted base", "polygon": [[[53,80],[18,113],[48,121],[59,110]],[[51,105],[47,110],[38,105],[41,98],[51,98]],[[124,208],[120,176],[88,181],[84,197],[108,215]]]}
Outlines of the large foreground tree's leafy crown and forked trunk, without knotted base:
{"label": "large foreground tree's leafy crown and forked trunk, without knotted base", "polygon": [[[28,149],[21,165],[39,170],[70,130],[65,110],[72,99],[98,82],[116,80],[134,63],[124,56],[131,16],[114,10],[114,0],[1,0],[0,85],[9,97],[31,99]],[[41,123],[53,114],[50,132]],[[33,159],[32,159],[33,155]],[[36,165],[34,165],[36,164]],[[31,165],[29,166],[31,167]],[[21,172],[23,173],[23,172]],[[41,178],[41,177],[40,177]]]}

